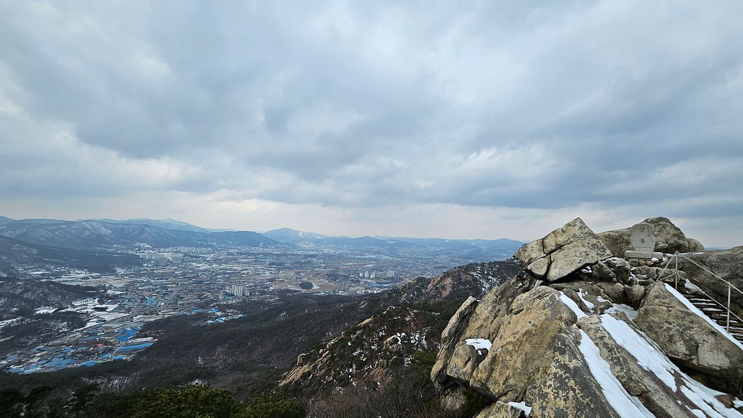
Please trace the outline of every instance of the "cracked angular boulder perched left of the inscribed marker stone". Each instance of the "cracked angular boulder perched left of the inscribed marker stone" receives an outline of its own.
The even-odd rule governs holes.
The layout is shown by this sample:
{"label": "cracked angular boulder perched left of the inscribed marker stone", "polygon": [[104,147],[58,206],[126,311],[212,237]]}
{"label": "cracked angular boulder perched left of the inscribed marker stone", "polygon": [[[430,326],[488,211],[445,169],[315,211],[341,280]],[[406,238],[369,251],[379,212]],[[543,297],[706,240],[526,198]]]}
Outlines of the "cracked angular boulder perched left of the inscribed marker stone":
{"label": "cracked angular boulder perched left of the inscribed marker stone", "polygon": [[513,257],[537,278],[557,281],[581,267],[610,258],[611,252],[582,219],[575,218],[544,238],[523,245]]}

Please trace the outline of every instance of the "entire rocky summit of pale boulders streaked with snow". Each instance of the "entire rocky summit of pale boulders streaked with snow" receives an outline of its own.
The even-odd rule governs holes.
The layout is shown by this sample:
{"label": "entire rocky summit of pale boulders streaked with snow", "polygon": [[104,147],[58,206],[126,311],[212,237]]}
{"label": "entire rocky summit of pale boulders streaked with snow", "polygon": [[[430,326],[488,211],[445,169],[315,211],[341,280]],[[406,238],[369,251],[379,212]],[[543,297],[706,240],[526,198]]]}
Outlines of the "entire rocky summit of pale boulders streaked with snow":
{"label": "entire rocky summit of pale boulders streaked with snow", "polygon": [[620,258],[629,228],[597,235],[580,218],[522,246],[525,273],[468,298],[441,333],[441,405],[460,414],[482,396],[477,418],[743,417],[743,328],[722,321],[698,272],[740,252],[677,264],[670,252],[704,247],[667,218],[646,222],[663,259]]}

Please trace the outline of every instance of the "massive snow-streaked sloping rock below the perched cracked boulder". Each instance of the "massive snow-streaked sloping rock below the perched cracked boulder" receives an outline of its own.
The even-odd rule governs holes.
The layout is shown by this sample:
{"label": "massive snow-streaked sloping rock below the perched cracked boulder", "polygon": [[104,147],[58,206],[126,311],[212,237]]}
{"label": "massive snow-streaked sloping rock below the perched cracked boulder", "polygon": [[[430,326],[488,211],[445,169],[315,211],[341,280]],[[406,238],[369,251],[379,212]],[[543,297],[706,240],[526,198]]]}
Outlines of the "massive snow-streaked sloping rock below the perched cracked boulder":
{"label": "massive snow-streaked sloping rock below the perched cracked boulder", "polygon": [[461,408],[466,389],[493,401],[478,418],[743,417],[740,401],[682,372],[601,284],[517,277],[468,299],[432,369],[442,405]]}

